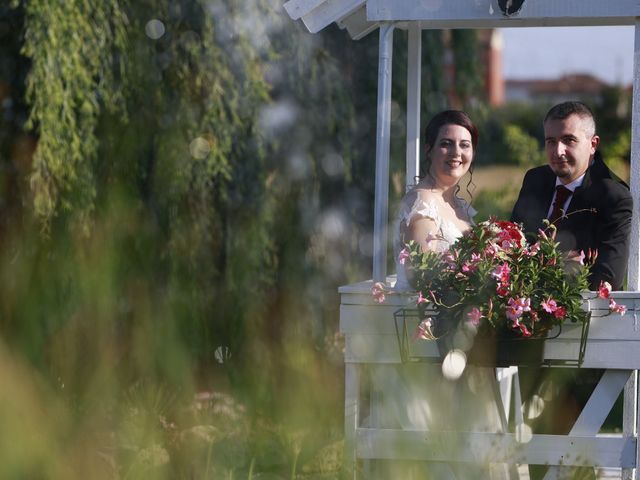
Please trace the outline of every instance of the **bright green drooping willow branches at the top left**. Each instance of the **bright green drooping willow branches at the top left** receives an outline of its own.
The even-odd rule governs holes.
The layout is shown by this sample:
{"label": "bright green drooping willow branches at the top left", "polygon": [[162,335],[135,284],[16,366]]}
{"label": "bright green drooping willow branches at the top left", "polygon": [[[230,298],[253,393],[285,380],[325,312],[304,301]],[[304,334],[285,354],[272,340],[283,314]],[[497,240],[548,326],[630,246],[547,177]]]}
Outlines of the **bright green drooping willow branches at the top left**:
{"label": "bright green drooping willow branches at the top left", "polygon": [[25,2],[23,53],[32,65],[28,126],[37,129],[31,186],[36,214],[48,222],[59,210],[81,221],[96,194],[96,125],[102,108],[122,109],[114,57],[126,46],[120,2]]}

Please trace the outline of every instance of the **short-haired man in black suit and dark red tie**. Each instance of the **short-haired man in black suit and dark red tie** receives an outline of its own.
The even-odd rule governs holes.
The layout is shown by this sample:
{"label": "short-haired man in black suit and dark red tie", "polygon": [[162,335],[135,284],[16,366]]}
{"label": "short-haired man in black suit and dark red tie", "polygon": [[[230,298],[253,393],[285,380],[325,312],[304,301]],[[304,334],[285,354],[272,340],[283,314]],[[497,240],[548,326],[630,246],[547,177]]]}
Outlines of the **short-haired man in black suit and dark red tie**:
{"label": "short-haired man in black suit and dark red tie", "polygon": [[511,220],[532,233],[544,228],[543,219],[553,221],[556,240],[569,258],[598,251],[590,289],[605,281],[621,290],[629,256],[631,193],[597,150],[600,137],[591,110],[580,102],[552,107],[544,119],[544,137],[548,165],[526,173]]}

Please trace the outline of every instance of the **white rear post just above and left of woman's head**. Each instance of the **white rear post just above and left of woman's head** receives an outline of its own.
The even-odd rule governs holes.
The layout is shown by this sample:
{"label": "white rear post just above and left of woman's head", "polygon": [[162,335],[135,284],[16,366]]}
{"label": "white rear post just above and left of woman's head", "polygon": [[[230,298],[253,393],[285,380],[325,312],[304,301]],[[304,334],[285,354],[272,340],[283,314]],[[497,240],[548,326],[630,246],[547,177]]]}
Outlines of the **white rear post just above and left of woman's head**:
{"label": "white rear post just above and left of woman's head", "polygon": [[412,23],[409,26],[407,63],[407,173],[405,190],[415,184],[420,171],[422,30],[417,23]]}

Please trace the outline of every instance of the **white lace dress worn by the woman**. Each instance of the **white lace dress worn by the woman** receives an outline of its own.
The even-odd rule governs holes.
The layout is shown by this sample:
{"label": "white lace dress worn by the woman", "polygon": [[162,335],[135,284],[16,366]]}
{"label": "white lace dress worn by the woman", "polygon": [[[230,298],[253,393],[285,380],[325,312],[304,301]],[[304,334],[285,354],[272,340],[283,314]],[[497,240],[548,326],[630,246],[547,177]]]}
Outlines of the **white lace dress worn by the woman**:
{"label": "white lace dress worn by the woman", "polygon": [[[405,201],[411,196],[405,197]],[[470,206],[459,199],[459,208],[473,212]],[[407,226],[416,217],[433,220],[438,228],[440,240],[430,245],[443,251],[462,235],[451,222],[443,220],[434,201],[424,201],[418,195],[415,201],[403,203],[396,219],[394,251],[398,281],[396,289],[409,290],[403,265],[397,262],[397,254],[403,247],[401,223]],[[382,428],[432,431],[501,432],[506,420],[498,393],[495,371],[492,368],[467,366],[457,380],[448,380],[439,364],[406,363],[402,365],[380,365],[372,369],[374,402],[372,422]],[[451,445],[450,448],[463,448]],[[437,480],[517,478],[515,467],[491,463],[483,459],[478,463],[443,462],[394,462],[383,465],[387,469],[384,478],[415,478]],[[400,469],[401,471],[398,471]],[[391,470],[391,471],[389,471]],[[511,474],[509,473],[511,472]]]}

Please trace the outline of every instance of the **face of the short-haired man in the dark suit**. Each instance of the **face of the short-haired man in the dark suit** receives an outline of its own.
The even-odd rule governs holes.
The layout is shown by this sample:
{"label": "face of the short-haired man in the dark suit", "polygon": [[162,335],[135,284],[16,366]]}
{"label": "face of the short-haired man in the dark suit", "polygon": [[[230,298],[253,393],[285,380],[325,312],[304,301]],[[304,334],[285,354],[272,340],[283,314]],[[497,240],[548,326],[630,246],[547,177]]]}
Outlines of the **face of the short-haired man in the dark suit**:
{"label": "face of the short-haired man in the dark suit", "polygon": [[587,171],[600,141],[593,123],[575,114],[548,119],[544,138],[549,166],[565,185]]}

